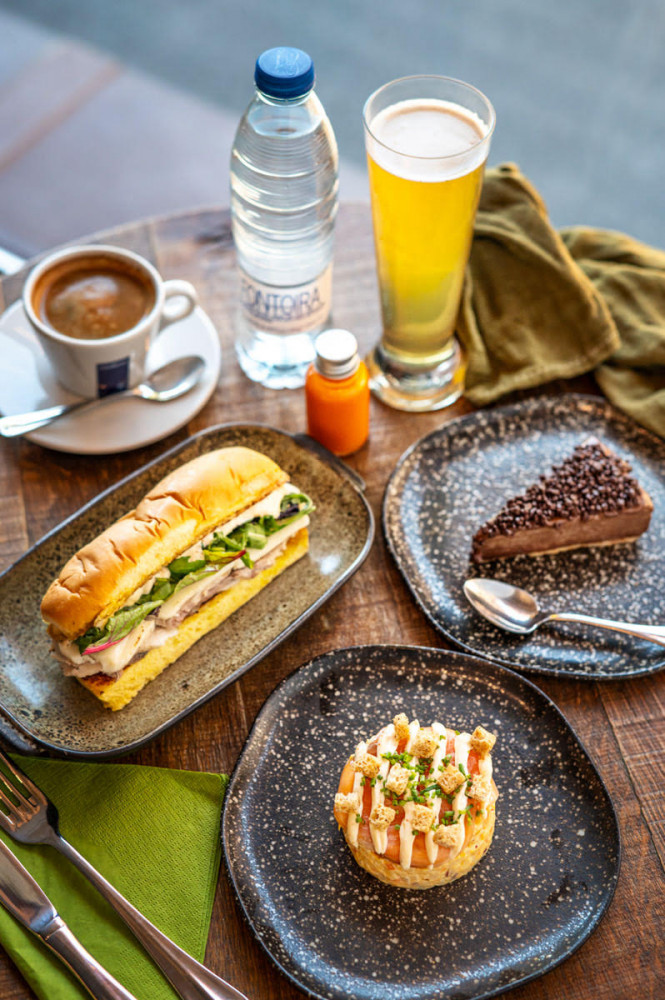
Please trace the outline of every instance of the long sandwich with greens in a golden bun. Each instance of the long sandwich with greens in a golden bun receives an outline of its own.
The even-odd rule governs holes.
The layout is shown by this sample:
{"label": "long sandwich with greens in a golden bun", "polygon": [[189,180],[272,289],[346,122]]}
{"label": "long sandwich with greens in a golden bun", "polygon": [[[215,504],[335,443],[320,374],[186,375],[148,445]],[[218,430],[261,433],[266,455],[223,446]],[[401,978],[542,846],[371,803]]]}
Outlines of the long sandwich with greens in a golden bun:
{"label": "long sandwich with greens in a golden bun", "polygon": [[41,605],[52,650],[108,708],[308,550],[312,501],[249,448],[175,469],[64,566]]}

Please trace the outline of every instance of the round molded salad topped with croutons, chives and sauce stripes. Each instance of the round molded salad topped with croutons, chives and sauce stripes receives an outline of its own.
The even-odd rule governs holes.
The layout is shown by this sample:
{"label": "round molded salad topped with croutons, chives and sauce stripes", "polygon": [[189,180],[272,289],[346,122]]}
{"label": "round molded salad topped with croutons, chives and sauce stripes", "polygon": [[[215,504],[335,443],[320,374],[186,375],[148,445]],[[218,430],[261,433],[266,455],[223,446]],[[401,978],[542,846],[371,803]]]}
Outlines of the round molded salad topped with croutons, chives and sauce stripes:
{"label": "round molded salad topped with croutons, chives and sauce stripes", "polygon": [[400,714],[359,743],[334,811],[361,868],[401,889],[466,875],[494,835],[494,742],[482,726],[472,735],[438,723],[421,728]]}

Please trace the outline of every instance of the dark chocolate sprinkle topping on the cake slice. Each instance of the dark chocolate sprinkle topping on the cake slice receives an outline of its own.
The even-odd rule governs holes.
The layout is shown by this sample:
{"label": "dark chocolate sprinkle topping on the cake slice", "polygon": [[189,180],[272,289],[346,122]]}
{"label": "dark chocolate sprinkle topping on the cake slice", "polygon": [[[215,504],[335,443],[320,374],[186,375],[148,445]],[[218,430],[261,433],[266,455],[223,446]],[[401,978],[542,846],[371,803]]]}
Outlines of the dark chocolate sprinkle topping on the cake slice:
{"label": "dark chocolate sprinkle topping on the cake slice", "polygon": [[640,506],[637,480],[630,465],[596,438],[575,448],[548,476],[506,505],[474,536],[474,548],[485,538],[513,535],[526,528],[556,521],[588,520],[594,515],[616,514]]}

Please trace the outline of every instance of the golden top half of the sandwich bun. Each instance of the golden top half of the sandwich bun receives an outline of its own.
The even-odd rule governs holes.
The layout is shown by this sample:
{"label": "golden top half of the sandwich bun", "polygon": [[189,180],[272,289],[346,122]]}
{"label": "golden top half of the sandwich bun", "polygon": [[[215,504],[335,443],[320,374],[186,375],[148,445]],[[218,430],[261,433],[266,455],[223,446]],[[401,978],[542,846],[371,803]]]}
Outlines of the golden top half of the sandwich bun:
{"label": "golden top half of the sandwich bun", "polygon": [[163,566],[288,478],[272,459],[241,447],[175,469],[72,556],[42,601],[49,634],[75,639],[103,624]]}

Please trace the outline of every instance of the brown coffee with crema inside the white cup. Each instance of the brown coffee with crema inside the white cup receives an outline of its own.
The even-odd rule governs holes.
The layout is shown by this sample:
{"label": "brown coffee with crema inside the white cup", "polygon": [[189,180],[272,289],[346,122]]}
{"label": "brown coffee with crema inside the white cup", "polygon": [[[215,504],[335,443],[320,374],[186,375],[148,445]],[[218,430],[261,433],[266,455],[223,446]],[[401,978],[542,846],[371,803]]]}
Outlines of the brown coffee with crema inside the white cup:
{"label": "brown coffee with crema inside the white cup", "polygon": [[77,340],[105,340],[126,333],[155,304],[149,275],[113,257],[62,261],[37,282],[35,312],[48,326]]}

